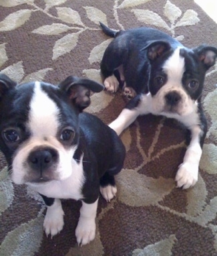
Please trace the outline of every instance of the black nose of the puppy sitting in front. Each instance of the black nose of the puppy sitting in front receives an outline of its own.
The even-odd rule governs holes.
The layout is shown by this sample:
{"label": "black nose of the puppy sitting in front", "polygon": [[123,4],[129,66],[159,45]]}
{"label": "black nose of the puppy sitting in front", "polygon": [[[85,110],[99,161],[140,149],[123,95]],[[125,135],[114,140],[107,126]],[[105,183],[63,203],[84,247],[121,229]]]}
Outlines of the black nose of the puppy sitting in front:
{"label": "black nose of the puppy sitting in front", "polygon": [[43,171],[57,162],[57,158],[55,149],[37,149],[29,154],[28,162],[34,170]]}

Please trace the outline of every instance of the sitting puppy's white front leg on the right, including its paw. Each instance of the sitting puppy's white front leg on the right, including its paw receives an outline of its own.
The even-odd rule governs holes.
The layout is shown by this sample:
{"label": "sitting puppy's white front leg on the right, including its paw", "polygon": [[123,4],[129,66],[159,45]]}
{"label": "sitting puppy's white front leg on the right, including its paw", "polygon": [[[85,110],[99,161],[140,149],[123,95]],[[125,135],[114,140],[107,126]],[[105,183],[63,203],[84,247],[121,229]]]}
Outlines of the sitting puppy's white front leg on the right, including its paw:
{"label": "sitting puppy's white front leg on the right, including its paw", "polygon": [[95,216],[98,198],[93,204],[82,201],[80,217],[75,230],[78,245],[86,245],[95,238]]}

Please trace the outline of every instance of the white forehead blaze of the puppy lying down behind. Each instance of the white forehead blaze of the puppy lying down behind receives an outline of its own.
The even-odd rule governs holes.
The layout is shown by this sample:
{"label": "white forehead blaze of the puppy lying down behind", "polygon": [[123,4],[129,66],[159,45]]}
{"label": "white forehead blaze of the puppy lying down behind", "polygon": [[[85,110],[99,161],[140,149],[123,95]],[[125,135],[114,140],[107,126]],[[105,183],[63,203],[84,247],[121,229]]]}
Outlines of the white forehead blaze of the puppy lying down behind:
{"label": "white forehead blaze of the puppy lying down behind", "polygon": [[184,58],[180,56],[180,48],[176,49],[172,56],[165,62],[164,71],[168,74],[168,81],[182,82],[185,63]]}

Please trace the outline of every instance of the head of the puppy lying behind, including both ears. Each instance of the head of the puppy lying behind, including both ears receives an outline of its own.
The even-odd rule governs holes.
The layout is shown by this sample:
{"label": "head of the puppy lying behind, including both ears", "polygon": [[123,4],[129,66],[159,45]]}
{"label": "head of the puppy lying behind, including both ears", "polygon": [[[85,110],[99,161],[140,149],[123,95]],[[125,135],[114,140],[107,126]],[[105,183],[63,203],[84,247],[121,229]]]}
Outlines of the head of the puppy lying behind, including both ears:
{"label": "head of the puppy lying behind, including both ears", "polygon": [[206,71],[215,64],[217,49],[173,48],[168,42],[151,42],[150,93],[154,112],[185,116],[196,110]]}

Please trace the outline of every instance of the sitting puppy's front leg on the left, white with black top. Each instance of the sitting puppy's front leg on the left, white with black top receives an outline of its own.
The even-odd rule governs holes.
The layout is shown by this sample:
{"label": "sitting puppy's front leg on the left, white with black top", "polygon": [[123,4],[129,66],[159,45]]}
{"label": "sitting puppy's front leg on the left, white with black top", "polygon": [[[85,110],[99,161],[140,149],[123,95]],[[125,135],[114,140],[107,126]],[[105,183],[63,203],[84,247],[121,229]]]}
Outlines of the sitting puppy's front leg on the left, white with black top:
{"label": "sitting puppy's front leg on the left, white with black top", "polygon": [[47,204],[47,212],[45,215],[45,220],[43,221],[43,228],[47,236],[51,234],[51,237],[53,237],[63,229],[64,225],[64,212],[61,206],[61,201],[57,198],[47,198],[46,196],[42,197],[45,204]]}

